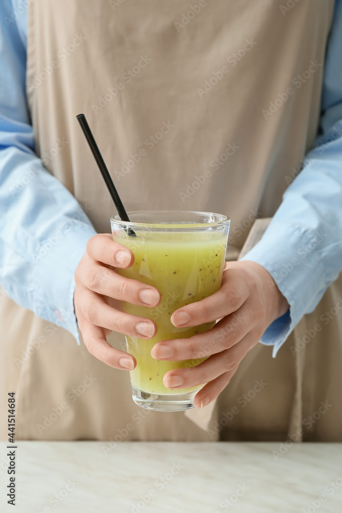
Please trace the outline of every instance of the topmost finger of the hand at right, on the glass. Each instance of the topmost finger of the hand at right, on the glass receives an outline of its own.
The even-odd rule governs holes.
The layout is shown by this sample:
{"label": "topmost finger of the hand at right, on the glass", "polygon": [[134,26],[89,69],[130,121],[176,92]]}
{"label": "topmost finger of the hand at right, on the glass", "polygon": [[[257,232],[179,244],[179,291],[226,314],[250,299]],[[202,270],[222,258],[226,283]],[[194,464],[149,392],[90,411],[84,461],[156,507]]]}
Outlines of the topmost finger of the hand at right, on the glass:
{"label": "topmost finger of the hand at right, on the glass", "polygon": [[216,321],[242,306],[249,293],[246,281],[240,279],[236,272],[234,274],[233,269],[227,269],[223,273],[222,286],[217,292],[176,310],[171,315],[171,322],[176,327],[186,327]]}

